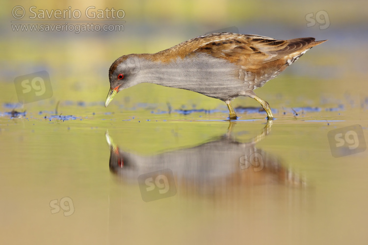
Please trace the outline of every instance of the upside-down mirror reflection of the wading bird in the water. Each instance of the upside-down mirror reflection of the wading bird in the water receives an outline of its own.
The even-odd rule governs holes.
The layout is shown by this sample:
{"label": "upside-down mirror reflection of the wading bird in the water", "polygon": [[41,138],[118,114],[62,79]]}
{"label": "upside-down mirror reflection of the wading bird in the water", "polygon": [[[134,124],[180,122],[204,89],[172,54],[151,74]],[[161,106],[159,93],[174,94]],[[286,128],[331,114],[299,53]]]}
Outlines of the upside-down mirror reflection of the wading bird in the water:
{"label": "upside-down mirror reflection of the wading bird in the water", "polygon": [[168,169],[179,193],[214,194],[235,186],[305,184],[298,174],[283,167],[278,157],[256,147],[270,133],[272,121],[245,143],[233,137],[235,125],[230,122],[225,135],[205,144],[149,156],[122,150],[106,132],[110,171],[126,182],[136,183],[142,174]]}

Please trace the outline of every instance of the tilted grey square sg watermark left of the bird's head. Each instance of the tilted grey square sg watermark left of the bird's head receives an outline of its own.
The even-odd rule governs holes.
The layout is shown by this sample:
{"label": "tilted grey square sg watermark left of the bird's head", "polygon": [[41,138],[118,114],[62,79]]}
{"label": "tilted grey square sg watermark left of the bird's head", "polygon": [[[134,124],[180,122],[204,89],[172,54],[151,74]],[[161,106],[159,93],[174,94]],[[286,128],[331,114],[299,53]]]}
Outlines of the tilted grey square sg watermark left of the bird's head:
{"label": "tilted grey square sg watermark left of the bird's head", "polygon": [[20,103],[34,102],[53,96],[50,76],[46,71],[18,76],[14,79],[14,84]]}

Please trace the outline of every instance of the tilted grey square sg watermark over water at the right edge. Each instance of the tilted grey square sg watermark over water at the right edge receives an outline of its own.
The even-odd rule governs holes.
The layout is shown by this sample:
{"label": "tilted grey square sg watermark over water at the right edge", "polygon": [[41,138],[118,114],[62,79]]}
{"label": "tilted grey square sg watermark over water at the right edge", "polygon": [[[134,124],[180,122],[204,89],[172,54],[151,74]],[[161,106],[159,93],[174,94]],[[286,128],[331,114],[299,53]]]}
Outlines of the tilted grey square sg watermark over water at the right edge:
{"label": "tilted grey square sg watermark over water at the right edge", "polygon": [[356,124],[331,130],[327,133],[333,157],[342,157],[367,149],[363,128]]}

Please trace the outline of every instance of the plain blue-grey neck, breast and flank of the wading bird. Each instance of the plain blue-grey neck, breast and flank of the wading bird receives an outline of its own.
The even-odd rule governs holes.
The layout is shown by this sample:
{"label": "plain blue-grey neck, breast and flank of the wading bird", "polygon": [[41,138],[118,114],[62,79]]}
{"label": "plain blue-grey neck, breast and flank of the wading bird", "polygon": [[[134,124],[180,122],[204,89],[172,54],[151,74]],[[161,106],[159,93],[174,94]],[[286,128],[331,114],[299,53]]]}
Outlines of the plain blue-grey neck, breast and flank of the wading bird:
{"label": "plain blue-grey neck, breast and flank of the wading bird", "polygon": [[142,66],[149,72],[145,82],[186,89],[212,98],[228,100],[249,90],[249,86],[238,78],[237,65],[206,53],[178,58],[170,63],[155,63],[154,67],[143,61]]}

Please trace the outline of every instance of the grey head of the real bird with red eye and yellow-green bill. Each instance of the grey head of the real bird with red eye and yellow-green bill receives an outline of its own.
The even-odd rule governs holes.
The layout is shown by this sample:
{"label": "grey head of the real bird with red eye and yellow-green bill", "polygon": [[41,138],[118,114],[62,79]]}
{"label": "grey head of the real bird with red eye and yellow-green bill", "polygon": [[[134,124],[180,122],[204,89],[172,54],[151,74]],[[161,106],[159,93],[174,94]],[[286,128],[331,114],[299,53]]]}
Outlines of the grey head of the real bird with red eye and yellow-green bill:
{"label": "grey head of the real bird with red eye and yellow-green bill", "polygon": [[110,70],[108,71],[110,91],[107,94],[105,107],[119,91],[139,83],[139,71],[139,58],[136,54],[121,56],[112,63]]}

